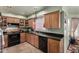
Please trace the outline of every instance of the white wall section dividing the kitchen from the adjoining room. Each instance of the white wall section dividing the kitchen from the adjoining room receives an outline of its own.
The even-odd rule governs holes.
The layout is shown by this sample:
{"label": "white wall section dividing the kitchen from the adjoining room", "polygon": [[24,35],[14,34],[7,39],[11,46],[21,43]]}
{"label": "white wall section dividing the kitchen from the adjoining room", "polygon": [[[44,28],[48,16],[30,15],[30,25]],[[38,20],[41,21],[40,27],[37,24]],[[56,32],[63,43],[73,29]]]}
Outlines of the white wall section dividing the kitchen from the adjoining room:
{"label": "white wall section dividing the kitchen from the adjoining room", "polygon": [[69,34],[71,29],[71,18],[72,16],[76,16],[75,14],[71,14],[67,10],[68,7],[62,7],[62,10],[64,11],[64,20],[66,19],[67,23],[64,23],[64,52],[67,52],[67,48],[69,45]]}

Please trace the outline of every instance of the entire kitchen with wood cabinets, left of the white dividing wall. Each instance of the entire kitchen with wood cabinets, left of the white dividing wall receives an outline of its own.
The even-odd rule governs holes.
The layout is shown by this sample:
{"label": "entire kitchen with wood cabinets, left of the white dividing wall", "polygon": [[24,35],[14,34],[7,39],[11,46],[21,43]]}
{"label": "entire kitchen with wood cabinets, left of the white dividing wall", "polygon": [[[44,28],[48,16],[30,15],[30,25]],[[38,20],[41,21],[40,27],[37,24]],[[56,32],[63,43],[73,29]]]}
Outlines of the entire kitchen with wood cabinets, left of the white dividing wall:
{"label": "entire kitchen with wood cabinets, left of the white dividing wall", "polygon": [[3,53],[63,53],[61,6],[1,6]]}

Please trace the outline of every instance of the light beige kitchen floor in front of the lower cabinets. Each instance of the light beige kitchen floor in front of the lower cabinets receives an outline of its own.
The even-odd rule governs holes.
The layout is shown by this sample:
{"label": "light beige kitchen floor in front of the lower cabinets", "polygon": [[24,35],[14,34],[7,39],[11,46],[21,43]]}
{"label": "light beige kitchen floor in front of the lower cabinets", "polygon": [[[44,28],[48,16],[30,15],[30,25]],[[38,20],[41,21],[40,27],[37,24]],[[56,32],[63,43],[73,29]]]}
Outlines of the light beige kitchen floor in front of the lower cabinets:
{"label": "light beige kitchen floor in front of the lower cabinets", "polygon": [[25,42],[16,46],[3,49],[3,53],[43,53],[41,50]]}

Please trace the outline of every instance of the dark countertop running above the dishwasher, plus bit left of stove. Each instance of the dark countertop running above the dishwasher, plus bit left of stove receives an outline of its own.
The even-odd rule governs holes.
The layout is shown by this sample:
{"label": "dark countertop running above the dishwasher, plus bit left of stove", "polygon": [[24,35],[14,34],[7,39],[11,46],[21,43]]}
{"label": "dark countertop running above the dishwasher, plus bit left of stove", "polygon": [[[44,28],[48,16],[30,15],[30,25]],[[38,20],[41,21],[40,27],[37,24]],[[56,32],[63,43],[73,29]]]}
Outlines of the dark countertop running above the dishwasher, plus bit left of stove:
{"label": "dark countertop running above the dishwasher, plus bit left of stove", "polygon": [[[38,35],[38,36],[43,36],[43,37],[47,37],[47,38],[51,38],[51,39],[57,39],[57,40],[61,40],[64,35],[63,34],[57,34],[57,33],[44,33],[44,32],[36,32],[36,31],[31,31],[31,32],[27,32],[27,31],[21,31],[20,33],[22,32],[25,32],[25,33],[30,33],[30,34],[34,34],[34,35]],[[4,35],[5,34],[9,34],[9,33],[6,33],[4,32]]]}

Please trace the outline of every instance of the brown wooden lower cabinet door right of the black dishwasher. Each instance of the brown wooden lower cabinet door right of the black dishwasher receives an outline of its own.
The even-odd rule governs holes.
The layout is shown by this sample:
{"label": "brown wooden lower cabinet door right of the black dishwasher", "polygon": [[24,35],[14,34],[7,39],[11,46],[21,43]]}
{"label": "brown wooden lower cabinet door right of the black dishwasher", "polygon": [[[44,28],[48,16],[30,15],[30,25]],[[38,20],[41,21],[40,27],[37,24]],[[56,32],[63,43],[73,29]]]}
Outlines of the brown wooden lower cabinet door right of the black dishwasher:
{"label": "brown wooden lower cabinet door right of the black dishwasher", "polygon": [[55,39],[48,39],[48,52],[49,53],[59,53],[60,52],[59,41],[57,41]]}

